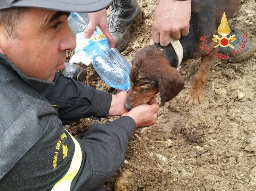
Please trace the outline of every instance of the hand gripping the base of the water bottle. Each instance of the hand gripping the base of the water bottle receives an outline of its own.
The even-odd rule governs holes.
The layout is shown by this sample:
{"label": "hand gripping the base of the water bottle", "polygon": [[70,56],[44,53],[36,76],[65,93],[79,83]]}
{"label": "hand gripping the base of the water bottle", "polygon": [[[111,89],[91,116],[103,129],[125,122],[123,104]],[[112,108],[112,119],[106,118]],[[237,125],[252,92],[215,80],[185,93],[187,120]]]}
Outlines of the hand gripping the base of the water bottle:
{"label": "hand gripping the base of the water bottle", "polygon": [[98,12],[88,13],[88,26],[85,28],[84,36],[89,39],[92,37],[96,26],[102,30],[109,40],[109,45],[114,47],[114,39],[112,38],[108,29],[108,18],[106,9],[102,9]]}

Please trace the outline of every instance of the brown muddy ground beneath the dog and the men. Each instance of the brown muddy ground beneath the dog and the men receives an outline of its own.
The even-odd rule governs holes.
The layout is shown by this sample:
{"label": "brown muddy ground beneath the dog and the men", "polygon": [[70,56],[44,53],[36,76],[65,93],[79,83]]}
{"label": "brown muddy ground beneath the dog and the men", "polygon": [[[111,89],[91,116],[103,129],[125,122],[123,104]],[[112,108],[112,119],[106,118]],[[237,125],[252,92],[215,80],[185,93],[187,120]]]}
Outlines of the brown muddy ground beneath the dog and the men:
{"label": "brown muddy ground beneath the dog and the men", "polygon": [[[141,11],[122,52],[130,63],[138,49],[152,44],[156,2],[138,0]],[[242,1],[239,15],[229,23],[255,40],[254,0]],[[183,64],[183,91],[161,104],[154,126],[135,132],[125,162],[105,184],[107,191],[256,191],[256,53],[246,61],[216,61],[204,87],[204,102],[190,107],[185,98],[199,61]],[[92,66],[84,68],[84,83],[112,91]],[[159,95],[157,100],[160,103]],[[81,138],[94,122],[82,119],[66,128]]]}

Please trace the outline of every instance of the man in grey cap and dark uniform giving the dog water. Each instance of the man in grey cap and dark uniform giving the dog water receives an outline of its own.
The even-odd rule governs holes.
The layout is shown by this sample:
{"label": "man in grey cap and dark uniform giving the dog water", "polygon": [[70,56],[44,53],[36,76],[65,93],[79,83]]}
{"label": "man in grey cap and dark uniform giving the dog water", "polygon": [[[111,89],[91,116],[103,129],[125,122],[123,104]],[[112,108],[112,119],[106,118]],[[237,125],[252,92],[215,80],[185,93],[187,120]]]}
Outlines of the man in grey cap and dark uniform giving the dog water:
{"label": "man in grey cap and dark uniform giving the dog water", "polygon": [[[135,128],[156,122],[154,99],[127,111],[126,92],[111,95],[56,73],[64,68],[66,50],[76,46],[69,11],[98,11],[111,2],[1,1],[1,191],[104,190]],[[95,123],[81,140],[64,129],[89,116],[121,117]]]}

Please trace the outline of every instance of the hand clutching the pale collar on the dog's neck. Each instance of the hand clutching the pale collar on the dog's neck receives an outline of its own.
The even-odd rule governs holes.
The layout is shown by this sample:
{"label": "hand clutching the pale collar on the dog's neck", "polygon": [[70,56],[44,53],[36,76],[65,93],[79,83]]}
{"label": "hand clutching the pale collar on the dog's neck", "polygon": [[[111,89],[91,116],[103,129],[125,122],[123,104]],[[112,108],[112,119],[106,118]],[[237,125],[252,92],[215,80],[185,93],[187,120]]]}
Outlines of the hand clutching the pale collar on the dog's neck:
{"label": "hand clutching the pale collar on the dog's neck", "polygon": [[153,18],[152,40],[163,47],[169,45],[170,36],[179,40],[189,33],[191,0],[159,0]]}

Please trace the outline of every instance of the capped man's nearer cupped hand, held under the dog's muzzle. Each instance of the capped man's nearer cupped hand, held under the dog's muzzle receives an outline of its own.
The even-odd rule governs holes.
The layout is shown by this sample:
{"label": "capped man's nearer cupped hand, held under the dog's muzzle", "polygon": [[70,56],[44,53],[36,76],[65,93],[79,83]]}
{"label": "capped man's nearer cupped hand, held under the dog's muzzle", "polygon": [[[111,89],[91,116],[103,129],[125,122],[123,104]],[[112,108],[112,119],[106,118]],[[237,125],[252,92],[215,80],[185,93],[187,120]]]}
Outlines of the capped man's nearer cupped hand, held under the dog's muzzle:
{"label": "capped man's nearer cupped hand, held under the dog's muzzle", "polygon": [[142,104],[132,108],[129,112],[121,116],[130,116],[136,123],[136,128],[148,127],[156,123],[159,105],[155,98],[148,104]]}

